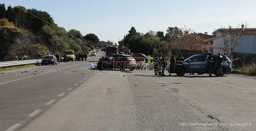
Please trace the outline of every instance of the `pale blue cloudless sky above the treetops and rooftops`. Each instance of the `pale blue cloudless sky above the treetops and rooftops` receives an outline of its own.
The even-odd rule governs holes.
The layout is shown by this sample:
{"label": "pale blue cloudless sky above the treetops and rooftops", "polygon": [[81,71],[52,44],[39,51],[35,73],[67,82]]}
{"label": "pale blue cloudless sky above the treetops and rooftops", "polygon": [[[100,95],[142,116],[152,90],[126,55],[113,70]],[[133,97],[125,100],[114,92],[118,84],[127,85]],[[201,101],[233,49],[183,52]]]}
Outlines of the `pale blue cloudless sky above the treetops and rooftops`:
{"label": "pale blue cloudless sky above the treetops and rooftops", "polygon": [[256,27],[256,0],[1,0],[6,6],[46,11],[66,30],[94,33],[100,41],[113,41],[128,33],[164,31],[181,27],[208,32],[238,24]]}

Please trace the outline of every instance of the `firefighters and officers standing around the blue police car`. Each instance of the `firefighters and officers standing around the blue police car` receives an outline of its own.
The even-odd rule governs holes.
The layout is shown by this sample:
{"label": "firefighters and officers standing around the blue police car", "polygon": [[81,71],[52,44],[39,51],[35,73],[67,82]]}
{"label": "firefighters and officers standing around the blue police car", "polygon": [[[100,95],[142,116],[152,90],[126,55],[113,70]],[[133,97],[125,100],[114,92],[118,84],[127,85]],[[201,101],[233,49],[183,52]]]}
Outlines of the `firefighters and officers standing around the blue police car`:
{"label": "firefighters and officers standing around the blue police car", "polygon": [[[162,55],[161,52],[159,54],[157,53],[156,57],[153,58],[155,76],[158,76],[158,75],[165,76],[164,71],[168,65],[167,60],[165,58],[166,58],[165,55]],[[178,68],[178,73],[180,73],[180,71],[182,71],[184,60],[185,59],[182,56],[182,54],[180,54],[176,59],[174,58],[174,56],[172,56],[170,58],[170,60],[169,60],[170,61],[169,76],[171,76],[171,72],[172,72],[172,69],[173,69],[173,66],[175,63]],[[213,69],[214,63],[215,63],[212,53],[209,55],[207,62],[208,62],[207,70],[209,71],[209,76],[212,76],[211,72],[212,72],[212,69]],[[216,62],[217,62],[217,66],[220,68],[220,71],[222,71],[223,57],[221,56],[221,53],[218,53]]]}

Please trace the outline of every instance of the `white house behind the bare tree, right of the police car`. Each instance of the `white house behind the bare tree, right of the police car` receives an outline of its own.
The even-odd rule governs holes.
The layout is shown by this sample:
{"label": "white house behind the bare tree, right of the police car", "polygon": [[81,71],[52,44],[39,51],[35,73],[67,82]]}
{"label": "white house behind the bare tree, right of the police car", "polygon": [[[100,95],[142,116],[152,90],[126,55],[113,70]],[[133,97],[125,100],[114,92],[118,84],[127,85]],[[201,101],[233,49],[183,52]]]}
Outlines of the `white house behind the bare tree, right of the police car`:
{"label": "white house behind the bare tree, right of the police car", "polygon": [[[230,28],[231,29],[231,28]],[[213,52],[216,54],[218,52],[220,53],[226,53],[225,45],[224,45],[224,39],[223,39],[223,31],[230,31],[230,29],[217,29],[216,31],[212,32],[214,35],[213,38]],[[241,25],[241,28],[231,29],[232,31],[240,30],[243,31],[242,36],[240,37],[241,44],[233,50],[233,52],[238,53],[256,53],[256,28],[246,28],[244,29],[244,25]],[[239,42],[239,40],[238,40]],[[228,49],[229,53],[231,52],[231,49]],[[227,54],[229,55],[229,54]]]}

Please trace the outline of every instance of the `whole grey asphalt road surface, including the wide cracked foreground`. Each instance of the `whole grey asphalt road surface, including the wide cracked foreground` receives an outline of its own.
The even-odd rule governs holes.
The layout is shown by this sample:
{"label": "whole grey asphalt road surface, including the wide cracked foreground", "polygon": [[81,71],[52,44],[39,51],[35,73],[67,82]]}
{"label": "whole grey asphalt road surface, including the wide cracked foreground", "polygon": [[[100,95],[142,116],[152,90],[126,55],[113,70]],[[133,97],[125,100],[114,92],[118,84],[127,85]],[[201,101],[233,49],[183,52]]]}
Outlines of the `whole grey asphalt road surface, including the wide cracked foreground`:
{"label": "whole grey asphalt road surface, including the wide cracked foreground", "polygon": [[0,125],[5,128],[0,130],[16,123],[9,131],[256,130],[256,77],[159,77],[153,72],[77,65],[2,84]]}

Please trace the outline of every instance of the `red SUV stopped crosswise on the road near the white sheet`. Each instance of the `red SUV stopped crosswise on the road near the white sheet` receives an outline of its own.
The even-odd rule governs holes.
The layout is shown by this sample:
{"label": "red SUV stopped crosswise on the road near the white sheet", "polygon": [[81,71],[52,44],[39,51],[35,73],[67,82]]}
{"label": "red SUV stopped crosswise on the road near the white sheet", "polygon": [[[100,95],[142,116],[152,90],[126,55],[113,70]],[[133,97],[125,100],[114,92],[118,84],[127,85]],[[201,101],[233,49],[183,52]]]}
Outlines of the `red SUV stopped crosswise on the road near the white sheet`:
{"label": "red SUV stopped crosswise on the road near the white sheet", "polygon": [[130,55],[108,55],[103,56],[97,63],[98,69],[120,69],[125,70],[129,68],[133,71],[137,66],[136,60]]}

